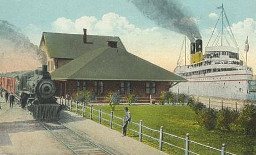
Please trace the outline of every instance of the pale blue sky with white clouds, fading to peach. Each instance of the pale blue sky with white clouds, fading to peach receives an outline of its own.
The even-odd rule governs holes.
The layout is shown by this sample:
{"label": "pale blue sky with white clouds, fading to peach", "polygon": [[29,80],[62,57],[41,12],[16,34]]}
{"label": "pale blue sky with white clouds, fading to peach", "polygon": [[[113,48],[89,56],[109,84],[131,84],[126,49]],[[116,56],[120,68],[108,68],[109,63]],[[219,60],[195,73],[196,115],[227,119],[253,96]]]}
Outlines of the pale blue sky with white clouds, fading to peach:
{"label": "pale blue sky with white clouds, fading to peach", "polygon": [[[159,20],[152,20],[151,16],[140,11],[133,1],[0,0],[0,20],[7,20],[21,29],[35,45],[39,45],[42,32],[83,34],[83,28],[87,28],[89,35],[120,37],[130,53],[169,71],[174,70],[178,60],[179,64],[184,64],[185,56],[180,56],[180,52],[184,53],[182,50],[184,34],[163,27],[158,23]],[[256,59],[256,11],[254,9],[256,1],[172,0],[172,2],[177,4],[177,7],[197,25],[202,36],[203,49],[219,18],[221,10],[217,7],[223,3],[238,43],[240,58],[244,58],[244,61],[244,44],[248,36],[247,64],[253,68],[254,74],[256,73],[256,61],[254,61]],[[187,45],[189,44],[188,42]],[[6,49],[1,49],[0,46],[0,52],[1,50]],[[186,61],[188,62],[187,58]]]}

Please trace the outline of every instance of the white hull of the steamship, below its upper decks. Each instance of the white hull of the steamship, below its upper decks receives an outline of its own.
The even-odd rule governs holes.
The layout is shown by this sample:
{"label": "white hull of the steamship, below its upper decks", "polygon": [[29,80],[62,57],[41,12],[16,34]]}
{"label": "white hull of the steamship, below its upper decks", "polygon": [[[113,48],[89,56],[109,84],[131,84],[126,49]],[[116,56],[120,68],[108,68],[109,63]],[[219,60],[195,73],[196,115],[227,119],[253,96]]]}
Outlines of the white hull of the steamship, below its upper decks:
{"label": "white hull of the steamship, below its upper decks", "polygon": [[188,82],[173,86],[170,91],[195,96],[248,100],[252,71],[233,70],[183,76]]}

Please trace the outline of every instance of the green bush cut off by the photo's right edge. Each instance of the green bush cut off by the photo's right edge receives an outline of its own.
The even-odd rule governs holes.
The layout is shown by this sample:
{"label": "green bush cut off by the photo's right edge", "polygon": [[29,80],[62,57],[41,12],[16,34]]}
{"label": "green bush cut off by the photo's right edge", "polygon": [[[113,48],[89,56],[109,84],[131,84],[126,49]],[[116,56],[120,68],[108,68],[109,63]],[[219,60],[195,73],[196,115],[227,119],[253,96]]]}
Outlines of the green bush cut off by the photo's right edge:
{"label": "green bush cut off by the photo's right edge", "polygon": [[238,118],[238,123],[246,134],[256,135],[256,106],[245,105]]}

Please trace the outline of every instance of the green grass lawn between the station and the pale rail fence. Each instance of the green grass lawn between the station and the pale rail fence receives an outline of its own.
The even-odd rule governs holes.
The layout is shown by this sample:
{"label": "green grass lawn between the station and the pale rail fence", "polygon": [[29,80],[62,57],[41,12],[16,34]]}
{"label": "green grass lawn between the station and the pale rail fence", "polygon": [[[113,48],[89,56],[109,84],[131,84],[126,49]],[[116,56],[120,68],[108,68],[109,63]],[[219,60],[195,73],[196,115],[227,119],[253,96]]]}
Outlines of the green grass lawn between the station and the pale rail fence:
{"label": "green grass lawn between the station and the pale rail fence", "polygon": [[[163,126],[164,132],[170,133],[175,136],[185,138],[185,135],[189,133],[189,139],[198,143],[202,143],[214,148],[221,149],[222,143],[226,145],[226,151],[235,154],[256,154],[256,138],[253,136],[243,135],[238,132],[223,132],[219,130],[206,130],[198,125],[195,121],[195,113],[189,106],[160,106],[160,105],[132,105],[128,106],[129,111],[132,113],[132,122],[139,123],[143,120],[143,126],[147,126],[154,130],[160,130]],[[94,109],[99,110],[102,108],[104,113],[111,113],[111,107],[109,106],[93,106]],[[74,108],[73,108],[74,110]],[[86,117],[88,117],[88,112]],[[94,112],[94,115],[95,114]],[[123,117],[124,106],[118,105],[114,111],[114,116]],[[109,120],[109,116],[103,116]],[[94,120],[97,121],[96,118]],[[114,122],[116,118],[114,118]],[[119,121],[119,124],[122,122]],[[109,123],[103,123],[109,126]],[[133,128],[132,125],[128,125],[128,128]],[[114,127],[115,130],[121,131],[121,127]],[[138,131],[137,128],[133,130]],[[147,131],[143,130],[143,133]],[[147,132],[148,133],[148,132]],[[130,137],[138,139],[138,133],[128,131]],[[158,136],[157,134],[156,137]],[[165,141],[165,138],[164,138]],[[177,139],[170,140],[169,143],[176,143],[178,146],[184,148],[185,142],[178,142]],[[158,148],[157,141],[151,141],[144,138],[143,142]],[[199,154],[220,154],[219,152],[209,151],[202,147],[198,147],[195,144],[190,144],[190,150]],[[163,151],[170,154],[184,154],[184,151],[177,151],[172,147],[163,146]]]}

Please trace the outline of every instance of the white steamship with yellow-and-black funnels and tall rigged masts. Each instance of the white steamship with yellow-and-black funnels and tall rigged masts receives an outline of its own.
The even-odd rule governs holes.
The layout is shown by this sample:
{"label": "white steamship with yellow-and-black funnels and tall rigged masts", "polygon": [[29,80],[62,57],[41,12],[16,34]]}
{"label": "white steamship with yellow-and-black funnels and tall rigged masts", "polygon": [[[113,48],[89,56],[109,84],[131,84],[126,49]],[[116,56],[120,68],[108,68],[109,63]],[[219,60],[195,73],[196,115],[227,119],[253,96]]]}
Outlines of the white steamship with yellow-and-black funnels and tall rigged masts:
{"label": "white steamship with yellow-and-black funnels and tall rigged masts", "polygon": [[[222,6],[222,18],[223,12]],[[226,15],[225,17],[227,18]],[[223,44],[222,31],[223,29],[220,31],[221,34],[219,33],[220,43],[217,44],[215,39],[215,43],[209,45],[210,38],[204,54],[201,39],[190,43],[190,65],[177,65],[174,69],[175,74],[184,77],[188,82],[176,84],[170,91],[195,96],[251,99],[249,87],[253,79],[253,70],[239,59],[238,46]]]}

